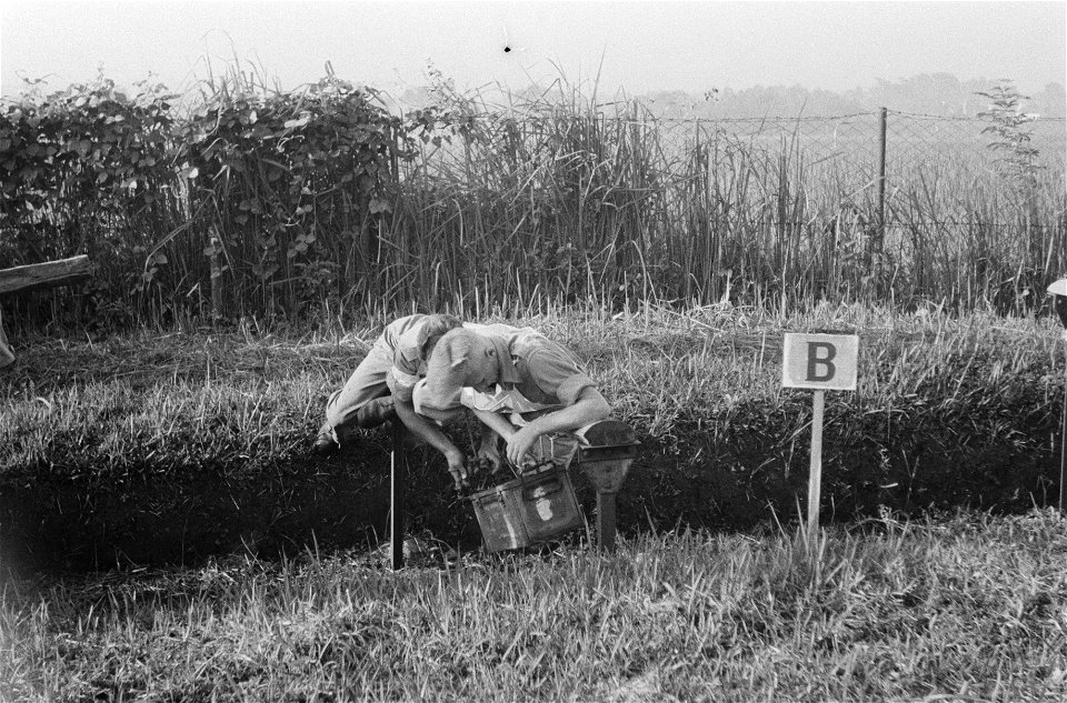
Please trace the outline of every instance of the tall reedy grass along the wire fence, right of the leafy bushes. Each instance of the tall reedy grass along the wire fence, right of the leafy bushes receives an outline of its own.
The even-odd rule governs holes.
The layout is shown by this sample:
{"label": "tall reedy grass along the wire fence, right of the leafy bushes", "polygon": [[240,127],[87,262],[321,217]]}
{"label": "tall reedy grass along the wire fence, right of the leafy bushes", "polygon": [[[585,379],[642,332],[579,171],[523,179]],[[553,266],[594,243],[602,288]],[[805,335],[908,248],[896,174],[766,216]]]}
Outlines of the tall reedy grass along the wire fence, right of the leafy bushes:
{"label": "tall reedy grass along the wire fence, right of the leafy bushes", "polygon": [[477,290],[782,311],[930,300],[1005,313],[1033,308],[1067,265],[1056,153],[1025,188],[974,143],[898,159],[881,232],[872,124],[851,161],[848,144],[821,149],[808,120],[679,125],[572,87],[507,111],[477,94],[445,99],[462,129],[401,168],[402,217],[386,235],[400,260],[382,260],[391,290],[427,307]]}

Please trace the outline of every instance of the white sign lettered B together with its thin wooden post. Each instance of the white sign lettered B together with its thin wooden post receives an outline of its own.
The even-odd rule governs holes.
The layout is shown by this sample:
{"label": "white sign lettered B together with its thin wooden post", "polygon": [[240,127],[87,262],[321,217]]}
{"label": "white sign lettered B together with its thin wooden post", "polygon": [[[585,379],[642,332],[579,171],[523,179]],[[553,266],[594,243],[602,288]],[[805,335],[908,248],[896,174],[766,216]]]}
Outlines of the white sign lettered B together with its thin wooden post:
{"label": "white sign lettered B together with its thin wooden post", "polygon": [[822,491],[822,409],[827,390],[855,391],[859,337],[787,332],[781,354],[781,384],[811,389],[811,462],[808,472],[808,544],[819,531]]}

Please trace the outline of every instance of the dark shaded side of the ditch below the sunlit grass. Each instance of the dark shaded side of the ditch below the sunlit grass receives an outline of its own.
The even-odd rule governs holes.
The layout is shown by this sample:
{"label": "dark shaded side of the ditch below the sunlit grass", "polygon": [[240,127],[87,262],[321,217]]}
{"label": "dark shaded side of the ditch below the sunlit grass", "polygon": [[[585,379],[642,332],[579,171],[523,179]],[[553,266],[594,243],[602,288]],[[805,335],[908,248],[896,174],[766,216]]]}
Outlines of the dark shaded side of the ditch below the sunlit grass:
{"label": "dark shaded side of the ditch below the sunlit grass", "polygon": [[[726,440],[680,429],[676,442],[646,441],[619,494],[620,531],[740,530],[774,515],[784,523],[796,519],[807,490],[807,435],[774,429],[774,420],[755,412],[748,421],[738,418]],[[795,420],[802,423],[802,415]],[[1049,426],[1030,425],[1028,435],[1016,432],[1008,442],[960,434],[928,418],[924,426],[911,426],[900,412],[889,419],[895,441],[877,445],[852,440],[857,428],[847,419],[828,420],[821,508],[827,521],[877,515],[882,506],[906,513],[961,505],[1017,512],[1051,504],[1058,494],[1059,460],[1048,443]],[[408,459],[410,529],[477,549],[473,514],[451,490],[441,460],[423,449]],[[0,488],[2,561],[64,570],[192,564],[245,550],[273,556],[370,546],[387,535],[385,432],[340,458],[290,461],[256,475],[210,466],[149,475],[120,485],[52,478]],[[580,468],[575,475],[591,520],[594,492]]]}

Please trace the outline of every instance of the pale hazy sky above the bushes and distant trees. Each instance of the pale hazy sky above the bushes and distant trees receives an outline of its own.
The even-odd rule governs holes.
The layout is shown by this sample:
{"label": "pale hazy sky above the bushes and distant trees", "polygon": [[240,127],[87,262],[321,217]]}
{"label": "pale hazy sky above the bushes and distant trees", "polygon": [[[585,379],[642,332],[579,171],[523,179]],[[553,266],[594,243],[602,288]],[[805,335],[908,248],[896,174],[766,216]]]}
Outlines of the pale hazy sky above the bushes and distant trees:
{"label": "pale hazy sky above the bushes and distant trees", "polygon": [[[0,80],[174,90],[207,60],[291,89],[335,72],[400,94],[428,61],[459,88],[562,76],[601,94],[794,84],[845,90],[918,73],[1067,82],[1067,2],[3,2]],[[511,51],[506,52],[509,47]],[[602,61],[602,63],[601,63]],[[602,69],[600,68],[602,64]],[[588,84],[588,83],[587,83]]]}

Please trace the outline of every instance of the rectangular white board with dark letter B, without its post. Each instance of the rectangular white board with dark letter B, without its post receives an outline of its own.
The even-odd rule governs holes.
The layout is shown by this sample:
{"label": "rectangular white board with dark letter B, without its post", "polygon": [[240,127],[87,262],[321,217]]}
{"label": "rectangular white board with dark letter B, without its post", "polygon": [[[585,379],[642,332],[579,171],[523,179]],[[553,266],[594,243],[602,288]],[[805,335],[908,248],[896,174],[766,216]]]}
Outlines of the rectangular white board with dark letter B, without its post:
{"label": "rectangular white board with dark letter B, without its post", "polygon": [[815,390],[856,390],[859,337],[787,332],[781,359],[781,384]]}

